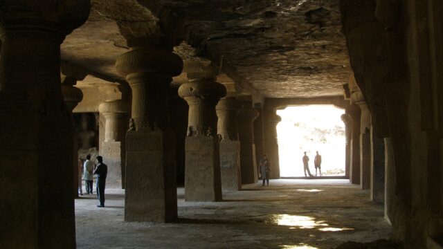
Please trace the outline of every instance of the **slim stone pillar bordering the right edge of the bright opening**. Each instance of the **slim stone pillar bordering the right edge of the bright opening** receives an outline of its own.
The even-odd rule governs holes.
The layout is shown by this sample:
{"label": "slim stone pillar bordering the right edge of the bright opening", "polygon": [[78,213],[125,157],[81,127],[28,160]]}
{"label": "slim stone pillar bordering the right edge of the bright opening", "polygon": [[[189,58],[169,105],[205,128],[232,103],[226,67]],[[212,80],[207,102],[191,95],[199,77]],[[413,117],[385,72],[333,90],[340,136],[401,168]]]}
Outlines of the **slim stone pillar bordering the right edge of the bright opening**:
{"label": "slim stone pillar bordering the right edge of the bright opening", "polygon": [[352,139],[351,139],[351,162],[350,162],[350,182],[360,184],[360,108],[356,104],[351,104],[346,109],[346,113],[352,119]]}

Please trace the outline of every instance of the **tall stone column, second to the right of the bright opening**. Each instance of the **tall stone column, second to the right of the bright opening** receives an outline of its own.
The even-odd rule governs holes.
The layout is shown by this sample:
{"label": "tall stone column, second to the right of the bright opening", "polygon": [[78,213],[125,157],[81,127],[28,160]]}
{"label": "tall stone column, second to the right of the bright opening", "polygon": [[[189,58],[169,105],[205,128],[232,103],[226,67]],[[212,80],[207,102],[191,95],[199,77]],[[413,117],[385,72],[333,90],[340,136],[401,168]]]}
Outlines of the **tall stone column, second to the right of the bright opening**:
{"label": "tall stone column, second to the right of the bright opening", "polygon": [[360,116],[360,185],[362,190],[370,189],[371,181],[371,113],[361,91],[351,95],[351,101],[359,105]]}

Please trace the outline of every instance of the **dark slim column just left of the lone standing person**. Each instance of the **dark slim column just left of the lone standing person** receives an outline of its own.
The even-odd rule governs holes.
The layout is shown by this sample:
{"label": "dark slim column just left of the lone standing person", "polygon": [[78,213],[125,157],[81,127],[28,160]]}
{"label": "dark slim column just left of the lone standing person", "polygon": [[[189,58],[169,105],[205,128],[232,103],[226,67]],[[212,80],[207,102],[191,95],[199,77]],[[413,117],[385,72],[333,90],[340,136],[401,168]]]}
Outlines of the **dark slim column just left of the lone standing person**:
{"label": "dark slim column just left of the lone standing person", "polygon": [[252,107],[251,102],[244,102],[243,109],[239,111],[237,116],[243,184],[257,183],[258,181],[253,127],[253,122],[257,117],[258,111]]}

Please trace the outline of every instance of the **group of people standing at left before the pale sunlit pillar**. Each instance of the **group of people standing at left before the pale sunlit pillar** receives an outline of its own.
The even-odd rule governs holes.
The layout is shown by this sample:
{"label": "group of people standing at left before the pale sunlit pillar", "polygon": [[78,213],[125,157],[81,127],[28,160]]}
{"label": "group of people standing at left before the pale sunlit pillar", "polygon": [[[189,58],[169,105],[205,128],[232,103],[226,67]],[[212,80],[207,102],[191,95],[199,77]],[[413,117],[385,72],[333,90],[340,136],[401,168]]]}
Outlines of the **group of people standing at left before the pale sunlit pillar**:
{"label": "group of people standing at left before the pale sunlit pillar", "polygon": [[[80,160],[80,159],[79,159]],[[97,176],[97,183],[96,183],[96,192],[97,192],[97,198],[100,202],[97,207],[103,208],[105,207],[105,185],[106,185],[106,176],[108,172],[108,167],[103,163],[102,156],[96,157],[97,164],[91,160],[91,155],[86,156],[86,160],[84,161],[82,167],[80,167],[81,178],[79,178],[79,192],[80,195],[83,195],[82,190],[82,184],[81,180],[84,181],[84,185],[86,187],[86,194],[92,194],[93,193],[93,176]]]}

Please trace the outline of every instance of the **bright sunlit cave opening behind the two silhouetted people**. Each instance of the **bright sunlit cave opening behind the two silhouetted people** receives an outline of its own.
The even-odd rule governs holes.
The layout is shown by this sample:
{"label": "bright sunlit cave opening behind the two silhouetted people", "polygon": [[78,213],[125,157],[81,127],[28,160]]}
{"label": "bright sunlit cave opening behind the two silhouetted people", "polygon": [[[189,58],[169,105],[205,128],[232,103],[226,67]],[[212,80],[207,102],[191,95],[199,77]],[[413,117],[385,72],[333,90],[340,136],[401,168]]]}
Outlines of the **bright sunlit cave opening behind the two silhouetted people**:
{"label": "bright sunlit cave opening behind the two silhouetted people", "polygon": [[[280,177],[304,177],[303,152],[309,169],[316,175],[314,158],[321,155],[321,176],[345,176],[344,109],[332,104],[313,104],[277,110],[282,121],[277,125]],[[317,172],[320,176],[320,172]]]}

